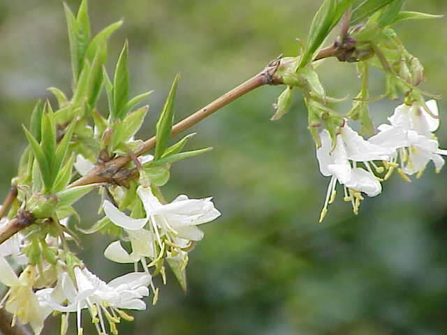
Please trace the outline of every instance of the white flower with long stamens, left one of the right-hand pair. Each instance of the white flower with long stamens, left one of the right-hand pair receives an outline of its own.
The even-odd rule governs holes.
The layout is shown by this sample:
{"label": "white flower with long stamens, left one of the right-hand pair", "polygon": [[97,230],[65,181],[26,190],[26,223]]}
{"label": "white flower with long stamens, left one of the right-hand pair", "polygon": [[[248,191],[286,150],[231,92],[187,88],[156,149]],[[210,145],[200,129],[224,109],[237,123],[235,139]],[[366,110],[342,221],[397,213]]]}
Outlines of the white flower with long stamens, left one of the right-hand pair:
{"label": "white flower with long stamens, left one of the right-hand pair", "polygon": [[[351,201],[354,213],[358,212],[361,192],[369,197],[381,193],[381,184],[370,165],[375,167],[372,161],[388,160],[392,151],[367,142],[346,123],[336,136],[335,146],[332,145],[328,131],[324,130],[320,138],[321,147],[316,150],[320,171],[323,176],[331,177],[321,211],[321,222],[328,211],[328,204],[335,198],[337,182],[344,186],[344,200]],[[367,170],[359,168],[357,162],[362,162]]]}

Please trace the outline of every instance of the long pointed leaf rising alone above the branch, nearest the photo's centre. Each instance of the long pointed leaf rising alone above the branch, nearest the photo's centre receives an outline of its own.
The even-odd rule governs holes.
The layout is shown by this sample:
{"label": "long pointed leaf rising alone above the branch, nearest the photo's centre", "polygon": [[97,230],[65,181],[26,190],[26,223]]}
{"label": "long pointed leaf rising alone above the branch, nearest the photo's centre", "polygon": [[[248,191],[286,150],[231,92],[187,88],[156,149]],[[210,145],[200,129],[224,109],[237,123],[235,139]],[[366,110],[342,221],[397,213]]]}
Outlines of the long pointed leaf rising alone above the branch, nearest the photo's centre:
{"label": "long pointed leaf rising alone above the branch, nearest the photo's centre", "polygon": [[163,111],[160,114],[159,121],[156,123],[156,144],[154,160],[158,160],[164,154],[168,145],[170,131],[173,128],[174,122],[174,99],[177,93],[177,86],[179,83],[179,75],[175,76],[173,86],[170,89],[168,98],[166,98]]}

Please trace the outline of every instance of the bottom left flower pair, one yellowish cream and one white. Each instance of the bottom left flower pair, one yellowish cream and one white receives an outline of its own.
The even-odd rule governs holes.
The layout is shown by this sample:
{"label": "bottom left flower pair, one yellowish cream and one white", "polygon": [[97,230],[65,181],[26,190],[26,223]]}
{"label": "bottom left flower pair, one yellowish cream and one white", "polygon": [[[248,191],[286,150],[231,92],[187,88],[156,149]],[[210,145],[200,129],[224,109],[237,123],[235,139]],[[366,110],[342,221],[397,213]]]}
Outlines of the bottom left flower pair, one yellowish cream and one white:
{"label": "bottom left flower pair, one yellowish cream and one white", "polygon": [[116,325],[121,318],[133,320],[122,309],[145,310],[142,297],[149,295],[147,286],[151,276],[145,272],[133,272],[105,283],[87,268],[75,267],[74,281],[68,272],[61,271],[54,288],[34,292],[36,269],[28,266],[20,277],[5,258],[0,257],[0,283],[10,289],[4,300],[6,310],[24,324],[29,323],[34,334],[40,334],[45,319],[53,311],[66,313],[62,316],[62,329],[68,327],[68,313],[77,313],[78,334],[82,334],[81,313],[88,309],[98,334],[107,334],[109,323],[112,334],[117,334]]}

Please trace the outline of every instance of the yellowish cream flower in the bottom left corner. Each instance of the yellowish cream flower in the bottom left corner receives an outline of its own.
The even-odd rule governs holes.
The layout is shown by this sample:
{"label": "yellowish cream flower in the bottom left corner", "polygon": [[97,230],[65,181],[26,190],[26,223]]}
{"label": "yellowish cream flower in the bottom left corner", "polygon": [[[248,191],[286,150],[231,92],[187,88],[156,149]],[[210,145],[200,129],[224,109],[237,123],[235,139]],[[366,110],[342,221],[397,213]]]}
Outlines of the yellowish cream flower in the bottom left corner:
{"label": "yellowish cream flower in the bottom left corner", "polygon": [[23,324],[29,323],[34,334],[41,334],[43,322],[52,312],[52,308],[41,304],[33,291],[36,278],[34,267],[27,267],[20,277],[17,277],[6,259],[0,257],[0,274],[0,283],[9,288],[0,306],[5,304],[6,311],[14,315],[13,323],[17,318]]}

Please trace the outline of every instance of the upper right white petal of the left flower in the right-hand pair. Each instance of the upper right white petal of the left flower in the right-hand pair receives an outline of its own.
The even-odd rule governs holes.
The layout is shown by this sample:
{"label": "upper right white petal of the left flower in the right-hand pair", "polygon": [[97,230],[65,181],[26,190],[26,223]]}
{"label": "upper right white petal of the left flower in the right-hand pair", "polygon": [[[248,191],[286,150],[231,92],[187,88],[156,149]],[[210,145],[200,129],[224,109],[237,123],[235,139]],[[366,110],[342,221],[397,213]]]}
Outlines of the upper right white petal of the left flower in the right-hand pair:
{"label": "upper right white petal of the left flower in the right-hand pair", "polygon": [[346,145],[346,152],[351,161],[381,161],[387,160],[393,149],[379,147],[365,140],[353,131],[347,124],[342,128],[342,137]]}

